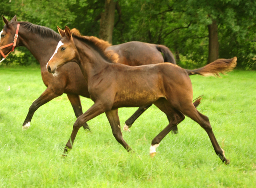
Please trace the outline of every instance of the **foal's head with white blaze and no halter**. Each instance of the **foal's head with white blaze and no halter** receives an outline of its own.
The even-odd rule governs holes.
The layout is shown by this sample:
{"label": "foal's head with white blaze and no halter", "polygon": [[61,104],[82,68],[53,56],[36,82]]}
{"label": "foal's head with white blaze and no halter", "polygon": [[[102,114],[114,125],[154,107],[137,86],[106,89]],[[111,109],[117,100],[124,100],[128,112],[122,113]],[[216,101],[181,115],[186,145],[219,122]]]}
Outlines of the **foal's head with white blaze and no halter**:
{"label": "foal's head with white blaze and no halter", "polygon": [[52,74],[56,72],[58,67],[70,61],[77,62],[76,55],[78,55],[70,29],[65,26],[65,31],[63,31],[58,27],[58,31],[62,36],[62,39],[59,41],[54,54],[46,65],[48,72]]}

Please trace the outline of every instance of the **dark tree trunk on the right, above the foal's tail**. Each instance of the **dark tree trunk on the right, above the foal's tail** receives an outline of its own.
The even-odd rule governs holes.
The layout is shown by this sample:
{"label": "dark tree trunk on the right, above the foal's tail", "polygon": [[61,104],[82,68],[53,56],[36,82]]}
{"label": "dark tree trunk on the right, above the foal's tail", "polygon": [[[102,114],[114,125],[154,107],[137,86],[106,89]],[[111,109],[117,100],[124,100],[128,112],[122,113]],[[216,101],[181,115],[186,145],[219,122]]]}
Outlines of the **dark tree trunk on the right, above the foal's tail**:
{"label": "dark tree trunk on the right, above the foal's tail", "polygon": [[218,42],[218,25],[216,20],[208,25],[209,32],[209,54],[208,63],[211,63],[219,58],[219,42]]}

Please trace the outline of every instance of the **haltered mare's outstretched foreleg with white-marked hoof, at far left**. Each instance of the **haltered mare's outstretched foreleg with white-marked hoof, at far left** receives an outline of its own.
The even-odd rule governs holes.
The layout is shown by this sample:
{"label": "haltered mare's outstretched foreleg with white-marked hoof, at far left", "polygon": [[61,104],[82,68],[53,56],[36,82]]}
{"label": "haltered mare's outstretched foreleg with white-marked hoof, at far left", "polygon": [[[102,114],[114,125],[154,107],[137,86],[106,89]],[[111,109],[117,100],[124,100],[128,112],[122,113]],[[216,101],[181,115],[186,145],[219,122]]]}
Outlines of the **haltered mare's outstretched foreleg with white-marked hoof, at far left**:
{"label": "haltered mare's outstretched foreleg with white-marked hoof, at far left", "polygon": [[28,115],[22,125],[22,129],[26,130],[29,128],[31,119],[32,119],[34,113],[36,112],[36,110],[40,106],[46,104],[50,100],[52,100],[62,94],[63,94],[63,92],[56,93],[52,89],[46,88],[46,90],[41,94],[41,96],[38,99],[36,99],[30,106],[30,108],[28,110]]}

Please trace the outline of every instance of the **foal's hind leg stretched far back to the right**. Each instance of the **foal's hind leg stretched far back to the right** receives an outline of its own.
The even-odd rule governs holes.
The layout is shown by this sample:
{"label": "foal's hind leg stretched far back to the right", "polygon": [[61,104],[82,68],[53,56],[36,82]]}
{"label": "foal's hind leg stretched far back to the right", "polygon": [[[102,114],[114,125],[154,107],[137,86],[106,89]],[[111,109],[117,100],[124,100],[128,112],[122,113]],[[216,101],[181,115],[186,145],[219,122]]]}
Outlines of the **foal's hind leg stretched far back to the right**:
{"label": "foal's hind leg stretched far back to the right", "polygon": [[224,150],[218,144],[218,141],[216,140],[216,137],[212,131],[212,127],[210,125],[208,117],[198,112],[198,110],[196,110],[193,105],[186,106],[183,109],[184,110],[180,110],[183,114],[196,121],[206,131],[210,138],[210,141],[212,142],[215,153],[220,157],[223,163],[228,165],[230,161],[226,159]]}

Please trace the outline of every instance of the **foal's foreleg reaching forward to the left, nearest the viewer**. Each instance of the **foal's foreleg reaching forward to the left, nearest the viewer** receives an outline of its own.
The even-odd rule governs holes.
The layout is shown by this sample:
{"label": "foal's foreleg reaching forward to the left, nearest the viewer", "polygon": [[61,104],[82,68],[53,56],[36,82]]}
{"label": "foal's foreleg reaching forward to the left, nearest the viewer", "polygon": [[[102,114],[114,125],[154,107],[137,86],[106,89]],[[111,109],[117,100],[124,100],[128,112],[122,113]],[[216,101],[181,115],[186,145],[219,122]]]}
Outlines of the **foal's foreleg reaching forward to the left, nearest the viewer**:
{"label": "foal's foreleg reaching forward to the left, nearest the viewer", "polygon": [[68,142],[64,149],[63,156],[66,156],[66,152],[68,151],[68,149],[72,149],[74,140],[76,138],[76,134],[77,134],[78,130],[80,129],[80,127],[82,127],[84,125],[84,123],[86,123],[90,119],[95,118],[96,116],[105,112],[104,109],[105,109],[104,106],[102,106],[101,104],[95,103],[86,112],[84,112],[84,114],[82,114],[81,116],[79,116],[76,119],[76,121],[73,125],[73,130],[72,130],[71,136],[68,139]]}

